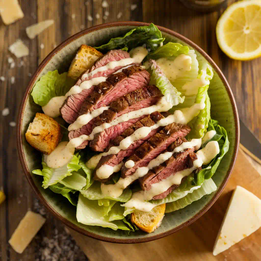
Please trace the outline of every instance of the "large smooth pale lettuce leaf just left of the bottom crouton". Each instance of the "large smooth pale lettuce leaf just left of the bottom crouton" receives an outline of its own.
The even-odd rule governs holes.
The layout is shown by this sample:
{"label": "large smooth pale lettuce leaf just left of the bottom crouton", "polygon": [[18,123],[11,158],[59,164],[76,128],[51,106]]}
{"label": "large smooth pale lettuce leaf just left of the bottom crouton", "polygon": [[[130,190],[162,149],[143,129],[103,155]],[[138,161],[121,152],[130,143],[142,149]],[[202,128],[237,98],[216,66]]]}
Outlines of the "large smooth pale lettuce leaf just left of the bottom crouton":
{"label": "large smooth pale lettuce leaf just left of the bottom crouton", "polygon": [[[113,212],[117,211],[117,209],[113,208],[114,204],[116,204],[116,201],[110,201],[109,206],[99,206],[98,200],[89,200],[80,194],[76,210],[77,221],[89,226],[101,226],[113,230],[122,229],[129,231],[129,225],[126,226],[122,220],[110,221],[110,217],[114,216]],[[117,215],[117,213],[114,214]]]}

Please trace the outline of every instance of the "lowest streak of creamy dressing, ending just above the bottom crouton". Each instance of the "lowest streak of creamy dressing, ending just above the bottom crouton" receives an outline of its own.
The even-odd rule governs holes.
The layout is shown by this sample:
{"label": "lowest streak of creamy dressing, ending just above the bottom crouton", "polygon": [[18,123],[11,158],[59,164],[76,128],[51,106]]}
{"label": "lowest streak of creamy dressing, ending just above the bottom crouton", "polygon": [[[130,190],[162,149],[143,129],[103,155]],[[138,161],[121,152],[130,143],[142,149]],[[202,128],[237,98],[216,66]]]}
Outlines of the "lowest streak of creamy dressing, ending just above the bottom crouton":
{"label": "lowest streak of creamy dressing, ending just above the bottom crouton", "polygon": [[[151,185],[148,191],[139,191],[132,194],[131,199],[125,204],[121,205],[127,208],[133,208],[149,212],[155,207],[155,204],[147,204],[147,200],[151,200],[154,196],[165,192],[173,185],[179,185],[183,177],[188,176],[193,170],[201,167],[202,165],[210,163],[210,161],[220,152],[217,141],[210,141],[206,147],[197,151],[197,157],[193,161],[193,167],[176,172],[174,175],[167,177],[157,183]],[[138,169],[139,170],[139,169]],[[137,171],[136,171],[137,172]],[[117,183],[116,183],[117,184]],[[146,200],[146,201],[145,201]]]}

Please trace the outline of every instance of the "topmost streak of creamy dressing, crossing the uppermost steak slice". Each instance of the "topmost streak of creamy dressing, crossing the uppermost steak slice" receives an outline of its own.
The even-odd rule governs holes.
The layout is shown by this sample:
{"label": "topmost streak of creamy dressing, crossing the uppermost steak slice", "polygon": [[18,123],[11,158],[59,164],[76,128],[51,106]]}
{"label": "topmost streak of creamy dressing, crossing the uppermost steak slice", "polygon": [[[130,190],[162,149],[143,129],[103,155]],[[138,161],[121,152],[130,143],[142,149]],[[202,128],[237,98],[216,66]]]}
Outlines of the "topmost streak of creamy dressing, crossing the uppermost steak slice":
{"label": "topmost streak of creamy dressing, crossing the uppermost steak slice", "polygon": [[[112,61],[107,63],[105,66],[99,67],[91,71],[90,73],[85,73],[82,75],[82,79],[88,79],[90,76],[93,76],[94,74],[98,72],[103,72],[108,69],[114,69],[119,66],[123,66],[123,68],[117,70],[116,73],[122,72],[123,69],[126,69],[132,64],[139,64],[142,62],[142,60],[146,57],[148,54],[148,51],[146,48],[143,47],[137,47],[130,51],[131,58],[125,58],[120,61]],[[106,76],[106,75],[105,75]],[[64,101],[67,99],[68,96],[72,94],[80,93],[83,90],[90,89],[93,85],[98,85],[101,82],[106,81],[107,77],[95,77],[90,80],[83,81],[80,85],[74,85],[64,96],[56,96],[53,97],[45,106],[42,107],[44,114],[55,118],[60,115],[60,108],[63,105]],[[86,122],[85,124],[87,124]],[[85,125],[84,124],[84,125]]]}

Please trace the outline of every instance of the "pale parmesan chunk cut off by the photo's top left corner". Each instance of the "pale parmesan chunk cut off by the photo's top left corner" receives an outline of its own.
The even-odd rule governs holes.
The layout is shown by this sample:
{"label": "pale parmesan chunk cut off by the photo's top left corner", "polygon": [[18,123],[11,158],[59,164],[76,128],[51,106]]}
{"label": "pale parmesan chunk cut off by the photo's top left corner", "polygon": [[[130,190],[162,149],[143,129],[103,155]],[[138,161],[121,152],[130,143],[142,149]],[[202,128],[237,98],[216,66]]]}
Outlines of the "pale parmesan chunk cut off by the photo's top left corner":
{"label": "pale parmesan chunk cut off by the photo's top left corner", "polygon": [[17,0],[0,0],[0,15],[6,25],[10,25],[24,16]]}

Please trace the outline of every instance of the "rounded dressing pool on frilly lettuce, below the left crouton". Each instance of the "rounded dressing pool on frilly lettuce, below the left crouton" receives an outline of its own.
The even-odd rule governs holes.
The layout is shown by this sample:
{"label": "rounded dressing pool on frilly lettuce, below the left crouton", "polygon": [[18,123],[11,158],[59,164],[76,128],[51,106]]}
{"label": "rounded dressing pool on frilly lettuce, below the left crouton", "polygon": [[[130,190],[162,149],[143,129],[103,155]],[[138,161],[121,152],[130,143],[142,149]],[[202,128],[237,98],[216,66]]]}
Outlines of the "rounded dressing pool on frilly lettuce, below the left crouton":
{"label": "rounded dressing pool on frilly lettuce, below the left crouton", "polygon": [[55,150],[46,157],[46,164],[49,168],[60,168],[72,159],[75,149],[67,145],[68,141],[60,142]]}

